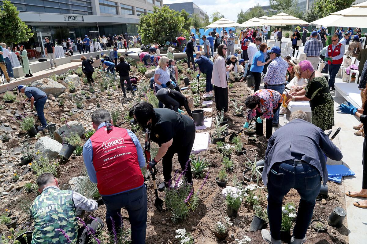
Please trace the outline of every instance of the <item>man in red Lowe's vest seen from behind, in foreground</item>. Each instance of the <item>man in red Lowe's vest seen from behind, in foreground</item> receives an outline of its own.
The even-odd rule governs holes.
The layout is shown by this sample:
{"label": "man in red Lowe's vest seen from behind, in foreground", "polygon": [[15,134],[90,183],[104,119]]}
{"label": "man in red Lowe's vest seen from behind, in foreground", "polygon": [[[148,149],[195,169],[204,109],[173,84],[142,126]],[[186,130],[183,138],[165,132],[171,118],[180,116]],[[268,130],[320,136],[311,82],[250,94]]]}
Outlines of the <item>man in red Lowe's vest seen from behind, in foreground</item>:
{"label": "man in red Lowe's vest seen from behind, in foreground", "polygon": [[111,233],[121,226],[120,211],[125,207],[131,224],[132,244],[144,244],[147,221],[147,197],[141,169],[145,166],[138,138],[128,129],[112,126],[105,109],[92,114],[95,133],[83,147],[84,164],[90,180],[97,183],[106,205],[106,224]]}

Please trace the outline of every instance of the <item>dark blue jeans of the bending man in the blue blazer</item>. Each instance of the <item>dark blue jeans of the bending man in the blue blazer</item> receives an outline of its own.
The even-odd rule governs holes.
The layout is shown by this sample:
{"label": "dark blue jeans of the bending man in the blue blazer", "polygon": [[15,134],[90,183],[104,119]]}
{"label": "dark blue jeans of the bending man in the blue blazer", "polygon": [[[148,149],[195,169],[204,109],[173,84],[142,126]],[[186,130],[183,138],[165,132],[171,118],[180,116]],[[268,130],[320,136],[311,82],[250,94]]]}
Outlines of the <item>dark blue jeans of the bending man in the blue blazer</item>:
{"label": "dark blue jeans of the bending man in the blue blazer", "polygon": [[283,197],[294,188],[301,196],[293,236],[303,239],[311,222],[316,196],[321,188],[321,176],[314,166],[293,161],[281,162],[272,166],[268,175],[268,217],[270,233],[280,240],[281,203]]}

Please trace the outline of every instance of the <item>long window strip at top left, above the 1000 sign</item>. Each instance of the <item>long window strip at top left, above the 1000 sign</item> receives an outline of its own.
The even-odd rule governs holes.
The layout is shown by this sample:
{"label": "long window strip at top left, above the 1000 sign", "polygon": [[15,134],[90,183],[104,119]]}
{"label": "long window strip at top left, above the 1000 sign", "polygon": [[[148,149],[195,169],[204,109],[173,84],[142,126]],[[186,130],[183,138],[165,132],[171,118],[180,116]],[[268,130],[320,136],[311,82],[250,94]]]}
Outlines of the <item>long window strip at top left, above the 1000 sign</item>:
{"label": "long window strip at top left, above the 1000 sign", "polygon": [[11,3],[23,12],[92,14],[91,0],[11,0]]}

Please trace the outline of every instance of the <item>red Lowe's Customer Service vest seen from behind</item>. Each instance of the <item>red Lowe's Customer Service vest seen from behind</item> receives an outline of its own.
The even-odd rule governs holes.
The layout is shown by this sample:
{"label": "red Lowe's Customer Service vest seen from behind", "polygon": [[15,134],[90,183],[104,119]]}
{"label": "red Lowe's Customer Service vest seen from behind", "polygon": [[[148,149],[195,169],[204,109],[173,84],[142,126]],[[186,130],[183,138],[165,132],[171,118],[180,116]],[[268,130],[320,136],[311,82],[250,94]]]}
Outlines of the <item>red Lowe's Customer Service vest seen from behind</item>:
{"label": "red Lowe's Customer Service vest seen from behind", "polygon": [[90,138],[97,187],[101,195],[112,195],[140,187],[144,183],[138,153],[126,129],[99,128]]}

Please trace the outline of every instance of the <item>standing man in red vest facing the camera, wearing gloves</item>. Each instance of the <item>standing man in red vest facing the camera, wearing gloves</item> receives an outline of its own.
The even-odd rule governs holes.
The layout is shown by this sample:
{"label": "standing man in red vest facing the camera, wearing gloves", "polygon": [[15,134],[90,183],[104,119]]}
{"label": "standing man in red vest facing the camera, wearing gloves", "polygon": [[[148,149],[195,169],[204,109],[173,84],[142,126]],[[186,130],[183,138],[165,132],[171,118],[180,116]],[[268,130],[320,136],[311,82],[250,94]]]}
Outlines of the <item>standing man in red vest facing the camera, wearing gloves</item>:
{"label": "standing man in red vest facing the camera, wearing gloves", "polygon": [[[331,37],[331,44],[327,47],[325,59],[329,58],[327,64],[329,66],[329,88],[330,91],[334,91],[335,76],[338,74],[340,65],[343,63],[343,55],[345,53],[344,44],[339,43],[339,36],[333,35]],[[333,61],[330,61],[332,59]]]}

